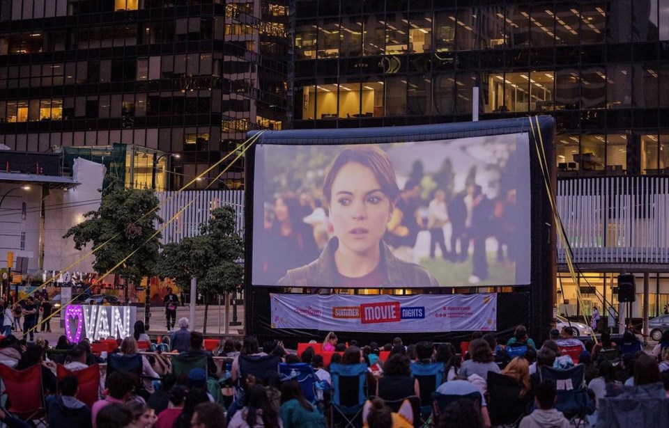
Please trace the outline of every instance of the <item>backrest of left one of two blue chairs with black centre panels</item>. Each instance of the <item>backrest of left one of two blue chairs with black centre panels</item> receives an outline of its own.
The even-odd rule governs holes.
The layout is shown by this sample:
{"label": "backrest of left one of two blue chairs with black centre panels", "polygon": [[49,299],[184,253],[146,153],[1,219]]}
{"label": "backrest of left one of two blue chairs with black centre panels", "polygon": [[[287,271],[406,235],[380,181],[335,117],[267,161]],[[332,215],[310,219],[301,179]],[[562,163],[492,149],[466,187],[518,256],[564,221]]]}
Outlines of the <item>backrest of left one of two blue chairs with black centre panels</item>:
{"label": "backrest of left one of two blue chairs with black centre panels", "polygon": [[367,382],[367,364],[339,364],[330,365],[332,377],[332,404],[342,409],[362,406],[367,395],[364,393],[364,384]]}

